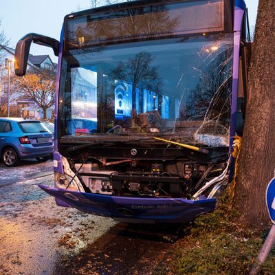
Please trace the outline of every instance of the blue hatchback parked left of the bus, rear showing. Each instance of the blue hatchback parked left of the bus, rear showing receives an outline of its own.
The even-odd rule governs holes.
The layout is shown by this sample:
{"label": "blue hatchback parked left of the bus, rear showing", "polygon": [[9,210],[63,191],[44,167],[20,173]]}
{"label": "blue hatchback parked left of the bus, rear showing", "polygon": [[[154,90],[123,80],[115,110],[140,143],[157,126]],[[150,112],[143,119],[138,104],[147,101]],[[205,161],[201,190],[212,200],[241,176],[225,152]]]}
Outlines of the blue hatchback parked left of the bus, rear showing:
{"label": "blue hatchback parked left of the bus, rear showing", "polygon": [[45,162],[54,151],[53,139],[39,120],[0,118],[0,156],[6,166],[29,158]]}

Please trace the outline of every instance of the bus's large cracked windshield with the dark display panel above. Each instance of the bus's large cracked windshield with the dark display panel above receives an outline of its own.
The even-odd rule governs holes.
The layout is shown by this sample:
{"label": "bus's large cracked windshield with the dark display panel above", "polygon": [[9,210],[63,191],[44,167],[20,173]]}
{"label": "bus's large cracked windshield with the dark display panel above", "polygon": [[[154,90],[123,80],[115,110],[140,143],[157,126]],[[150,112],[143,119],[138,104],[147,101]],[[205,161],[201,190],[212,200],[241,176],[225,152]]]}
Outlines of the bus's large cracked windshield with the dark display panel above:
{"label": "bus's large cracked windshield with the dark display panel above", "polygon": [[[212,11],[208,29],[219,30],[222,24],[215,14],[223,2],[210,2],[199,12]],[[232,34],[186,35],[190,30],[182,26],[186,28],[188,18],[177,17],[179,10],[187,16],[185,3],[152,7],[150,12],[132,11],[135,28],[141,23],[129,34],[125,29],[131,20],[125,12],[115,14],[113,21],[98,15],[102,20],[97,32],[92,28],[98,22],[95,16],[68,24],[61,136],[171,136],[192,144],[228,146]],[[157,14],[162,14],[161,21]],[[206,25],[203,21],[203,28]],[[199,22],[196,28],[192,32],[201,32]]]}

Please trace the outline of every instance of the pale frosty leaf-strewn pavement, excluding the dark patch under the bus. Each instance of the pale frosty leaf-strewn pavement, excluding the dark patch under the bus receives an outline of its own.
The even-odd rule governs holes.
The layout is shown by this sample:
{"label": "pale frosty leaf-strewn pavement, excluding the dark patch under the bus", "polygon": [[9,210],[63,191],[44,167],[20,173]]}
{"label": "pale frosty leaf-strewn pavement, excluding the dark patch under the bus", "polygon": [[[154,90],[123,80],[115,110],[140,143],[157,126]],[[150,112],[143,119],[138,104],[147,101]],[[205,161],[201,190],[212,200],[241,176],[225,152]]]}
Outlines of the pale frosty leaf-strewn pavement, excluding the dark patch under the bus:
{"label": "pale frosty leaf-strewn pavement, excluding the dark patch under the bus", "polygon": [[53,186],[52,161],[0,164],[0,274],[54,274],[58,259],[74,256],[115,225],[111,219],[60,208],[36,184]]}

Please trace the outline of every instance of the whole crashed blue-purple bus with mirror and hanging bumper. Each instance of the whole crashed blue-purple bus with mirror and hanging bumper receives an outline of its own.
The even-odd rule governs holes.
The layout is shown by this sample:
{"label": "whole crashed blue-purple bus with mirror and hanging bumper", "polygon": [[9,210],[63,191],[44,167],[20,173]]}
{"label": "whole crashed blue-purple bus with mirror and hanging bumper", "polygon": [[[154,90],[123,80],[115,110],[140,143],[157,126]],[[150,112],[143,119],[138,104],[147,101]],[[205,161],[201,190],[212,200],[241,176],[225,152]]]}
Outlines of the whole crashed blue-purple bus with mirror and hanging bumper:
{"label": "whole crashed blue-purple bus with mirror and hanging bumper", "polygon": [[58,56],[58,206],[118,221],[183,223],[217,207],[234,174],[250,63],[243,0],[139,0],[68,14]]}

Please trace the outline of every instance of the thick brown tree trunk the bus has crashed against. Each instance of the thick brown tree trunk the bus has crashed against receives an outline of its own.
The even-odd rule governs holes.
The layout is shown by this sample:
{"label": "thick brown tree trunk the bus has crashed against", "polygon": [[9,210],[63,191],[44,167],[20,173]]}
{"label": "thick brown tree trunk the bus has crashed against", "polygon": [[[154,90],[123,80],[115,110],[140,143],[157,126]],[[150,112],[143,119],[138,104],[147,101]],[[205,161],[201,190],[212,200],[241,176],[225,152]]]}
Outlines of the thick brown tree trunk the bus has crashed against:
{"label": "thick brown tree trunk the bus has crashed against", "polygon": [[235,206],[244,225],[268,221],[265,190],[275,171],[275,2],[259,0]]}

